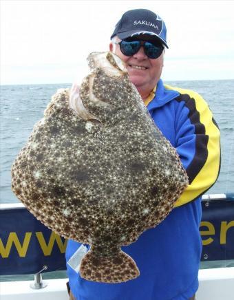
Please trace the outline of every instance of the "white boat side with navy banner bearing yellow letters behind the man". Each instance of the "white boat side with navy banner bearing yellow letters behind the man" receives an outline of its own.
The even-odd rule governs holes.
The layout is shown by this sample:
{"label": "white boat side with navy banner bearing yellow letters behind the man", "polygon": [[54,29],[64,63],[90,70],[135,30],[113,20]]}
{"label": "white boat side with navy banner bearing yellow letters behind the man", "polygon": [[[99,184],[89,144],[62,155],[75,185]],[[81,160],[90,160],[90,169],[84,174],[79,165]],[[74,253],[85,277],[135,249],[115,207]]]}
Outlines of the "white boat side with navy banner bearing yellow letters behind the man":
{"label": "white boat side with navy banner bearing yellow letters behind the man", "polygon": [[[41,224],[21,203],[0,204],[0,228],[0,275],[34,274],[34,281],[0,282],[0,299],[69,299],[67,278],[43,279],[43,272],[65,270],[67,241]],[[231,300],[234,264],[227,266],[227,261],[234,261],[234,193],[202,196],[200,234],[201,261],[222,264],[200,269],[196,300]]]}

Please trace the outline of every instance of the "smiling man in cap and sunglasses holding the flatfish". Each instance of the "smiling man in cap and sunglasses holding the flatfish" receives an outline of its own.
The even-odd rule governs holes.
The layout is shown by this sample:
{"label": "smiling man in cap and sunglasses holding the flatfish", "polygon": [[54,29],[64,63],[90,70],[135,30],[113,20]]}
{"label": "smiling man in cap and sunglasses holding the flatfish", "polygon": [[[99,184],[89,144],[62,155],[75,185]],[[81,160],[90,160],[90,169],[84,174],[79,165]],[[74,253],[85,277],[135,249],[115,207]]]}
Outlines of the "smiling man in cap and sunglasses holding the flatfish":
{"label": "smiling man in cap and sunglasses holding the flatfish", "polygon": [[[123,14],[109,45],[110,51],[127,64],[129,78],[151,117],[177,149],[189,175],[189,186],[161,224],[123,247],[137,261],[137,279],[115,284],[86,281],[67,265],[70,299],[195,299],[202,250],[200,201],[217,180],[220,132],[200,95],[162,83],[164,47],[168,47],[164,22],[153,12],[142,9]],[[67,261],[80,246],[68,242]]]}

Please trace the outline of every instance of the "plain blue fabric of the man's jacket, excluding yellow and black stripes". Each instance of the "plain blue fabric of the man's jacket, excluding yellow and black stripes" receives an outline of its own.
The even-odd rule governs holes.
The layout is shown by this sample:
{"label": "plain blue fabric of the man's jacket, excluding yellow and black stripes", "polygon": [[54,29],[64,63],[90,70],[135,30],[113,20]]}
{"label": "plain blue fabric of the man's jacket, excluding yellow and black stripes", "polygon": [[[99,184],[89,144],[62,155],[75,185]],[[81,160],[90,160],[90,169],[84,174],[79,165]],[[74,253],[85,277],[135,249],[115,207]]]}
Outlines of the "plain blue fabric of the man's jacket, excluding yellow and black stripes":
{"label": "plain blue fabric of the man's jacket, excluding yellow and black stripes", "polygon": [[[193,158],[194,127],[189,111],[175,98],[173,90],[157,85],[156,97],[148,109],[156,125],[177,148],[184,167]],[[193,140],[194,139],[194,140]],[[70,266],[67,274],[77,300],[185,300],[198,289],[198,269],[202,242],[199,233],[200,198],[174,208],[156,228],[142,233],[138,240],[122,249],[136,261],[140,270],[137,279],[125,283],[96,283],[81,278]],[[81,244],[69,241],[68,260]]]}

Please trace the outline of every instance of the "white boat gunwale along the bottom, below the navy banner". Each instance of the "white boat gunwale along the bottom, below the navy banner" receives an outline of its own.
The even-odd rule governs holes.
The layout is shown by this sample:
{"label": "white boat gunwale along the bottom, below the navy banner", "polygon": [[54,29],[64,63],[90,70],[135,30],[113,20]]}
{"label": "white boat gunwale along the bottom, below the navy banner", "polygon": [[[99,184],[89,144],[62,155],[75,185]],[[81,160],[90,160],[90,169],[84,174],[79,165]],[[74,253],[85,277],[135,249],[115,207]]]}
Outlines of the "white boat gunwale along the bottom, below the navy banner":
{"label": "white boat gunwale along the bottom, below the navy banner", "polygon": [[[199,288],[196,300],[233,299],[234,268],[217,268],[199,271]],[[30,288],[32,281],[0,282],[1,300],[68,300],[67,279],[45,280],[41,290]],[[101,300],[101,299],[100,299]]]}

